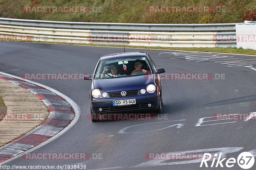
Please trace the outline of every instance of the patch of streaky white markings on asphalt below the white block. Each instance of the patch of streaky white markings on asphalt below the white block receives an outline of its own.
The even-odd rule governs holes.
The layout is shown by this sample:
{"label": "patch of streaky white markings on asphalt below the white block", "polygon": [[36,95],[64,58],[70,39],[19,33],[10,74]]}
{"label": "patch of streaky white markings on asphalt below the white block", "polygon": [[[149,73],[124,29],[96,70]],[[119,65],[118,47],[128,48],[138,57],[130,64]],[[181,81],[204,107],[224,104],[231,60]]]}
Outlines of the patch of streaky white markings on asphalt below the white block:
{"label": "patch of streaky white markings on asphalt below the white block", "polygon": [[[234,66],[243,66],[250,68],[256,71],[256,59],[243,59],[243,58],[235,58],[234,56],[228,56],[225,54],[216,54],[216,53],[202,53],[202,52],[164,52],[159,53],[158,55],[167,54],[167,55],[175,55],[175,57],[170,59],[178,59],[184,58],[189,61],[195,62],[204,62],[204,61],[214,61],[215,63],[226,64],[228,67]],[[237,54],[239,55],[239,54]],[[177,56],[177,57],[176,57]],[[182,57],[179,57],[182,56]],[[240,60],[238,60],[240,59]]]}

